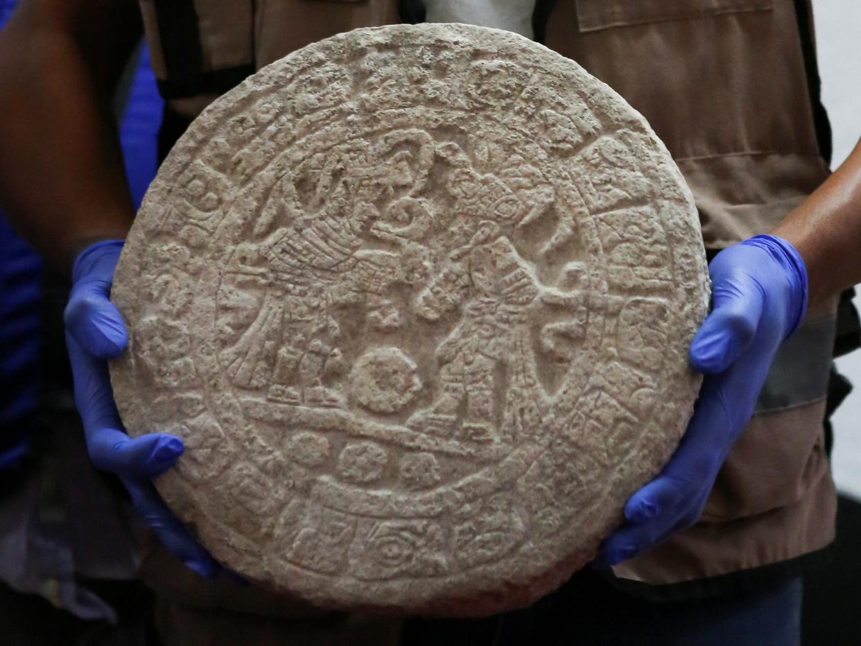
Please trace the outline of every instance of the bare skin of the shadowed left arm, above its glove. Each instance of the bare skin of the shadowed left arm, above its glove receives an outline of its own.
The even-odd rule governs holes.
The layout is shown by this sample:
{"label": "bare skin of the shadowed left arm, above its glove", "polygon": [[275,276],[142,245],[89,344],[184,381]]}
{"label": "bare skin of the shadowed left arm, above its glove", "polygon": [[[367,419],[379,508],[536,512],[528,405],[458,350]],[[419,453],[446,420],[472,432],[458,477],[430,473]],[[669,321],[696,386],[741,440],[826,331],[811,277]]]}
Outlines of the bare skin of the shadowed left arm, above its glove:
{"label": "bare skin of the shadowed left arm, above its glove", "polygon": [[134,0],[22,0],[0,30],[0,206],[65,270],[134,215],[111,99],[140,36]]}

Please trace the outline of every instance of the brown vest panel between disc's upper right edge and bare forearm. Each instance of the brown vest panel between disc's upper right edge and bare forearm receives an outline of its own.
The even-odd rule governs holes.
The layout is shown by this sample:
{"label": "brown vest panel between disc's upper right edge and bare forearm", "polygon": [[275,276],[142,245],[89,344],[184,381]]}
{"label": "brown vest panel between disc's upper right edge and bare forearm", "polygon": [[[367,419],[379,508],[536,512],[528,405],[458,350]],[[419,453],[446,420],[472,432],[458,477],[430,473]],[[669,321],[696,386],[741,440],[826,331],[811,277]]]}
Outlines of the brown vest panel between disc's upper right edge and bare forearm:
{"label": "brown vest panel between disc's upper right edge and bare forearm", "polygon": [[827,177],[792,0],[557,0],[547,45],[646,117],[707,247],[771,229]]}

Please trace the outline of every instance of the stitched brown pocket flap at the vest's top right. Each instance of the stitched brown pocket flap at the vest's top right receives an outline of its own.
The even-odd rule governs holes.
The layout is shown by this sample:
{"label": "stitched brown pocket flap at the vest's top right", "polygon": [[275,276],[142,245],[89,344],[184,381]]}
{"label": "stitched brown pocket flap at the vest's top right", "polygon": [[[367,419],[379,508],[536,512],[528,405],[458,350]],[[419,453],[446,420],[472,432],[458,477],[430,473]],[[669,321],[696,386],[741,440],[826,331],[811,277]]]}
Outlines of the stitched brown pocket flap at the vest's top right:
{"label": "stitched brown pocket flap at the vest's top right", "polygon": [[576,0],[576,3],[581,32],[774,9],[774,0]]}

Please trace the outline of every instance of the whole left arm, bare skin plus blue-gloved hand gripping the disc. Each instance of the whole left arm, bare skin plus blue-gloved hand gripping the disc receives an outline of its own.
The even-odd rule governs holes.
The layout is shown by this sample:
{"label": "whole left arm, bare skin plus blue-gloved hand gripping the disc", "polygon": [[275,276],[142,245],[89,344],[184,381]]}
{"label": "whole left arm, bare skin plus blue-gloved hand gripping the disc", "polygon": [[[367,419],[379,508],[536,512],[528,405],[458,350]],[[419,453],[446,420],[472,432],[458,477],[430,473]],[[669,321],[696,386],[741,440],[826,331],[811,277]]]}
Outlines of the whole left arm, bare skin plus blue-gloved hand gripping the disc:
{"label": "whole left arm, bare skin plus blue-gloved hand gripping the disc", "polygon": [[133,219],[111,97],[140,38],[134,0],[23,0],[0,32],[0,204],[40,252],[66,270],[66,346],[90,460],[119,476],[162,544],[189,568],[220,566],[152,486],[183,442],[129,438],[108,378],[125,351],[125,323],[109,300]]}

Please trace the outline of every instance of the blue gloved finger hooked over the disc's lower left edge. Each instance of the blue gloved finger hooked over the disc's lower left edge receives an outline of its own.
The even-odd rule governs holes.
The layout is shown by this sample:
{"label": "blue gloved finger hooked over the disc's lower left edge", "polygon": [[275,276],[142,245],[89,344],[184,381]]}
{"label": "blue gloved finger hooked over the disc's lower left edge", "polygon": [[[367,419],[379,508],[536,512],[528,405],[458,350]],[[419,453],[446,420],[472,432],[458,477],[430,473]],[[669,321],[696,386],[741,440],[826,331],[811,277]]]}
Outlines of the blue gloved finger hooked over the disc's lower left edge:
{"label": "blue gloved finger hooked over the disc's lower left edge", "polygon": [[88,435],[87,450],[96,469],[152,480],[177,462],[183,441],[167,433],[129,438],[116,429],[100,428]]}

